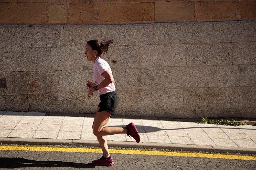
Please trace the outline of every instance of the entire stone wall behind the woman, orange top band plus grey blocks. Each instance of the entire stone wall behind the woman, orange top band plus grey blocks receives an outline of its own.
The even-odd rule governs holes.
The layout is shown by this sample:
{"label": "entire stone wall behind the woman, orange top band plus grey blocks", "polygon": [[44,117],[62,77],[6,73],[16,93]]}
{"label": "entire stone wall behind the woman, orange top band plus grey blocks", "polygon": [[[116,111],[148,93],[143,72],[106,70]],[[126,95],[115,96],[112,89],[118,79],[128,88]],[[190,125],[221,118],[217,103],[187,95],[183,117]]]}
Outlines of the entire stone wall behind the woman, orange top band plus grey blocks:
{"label": "entire stone wall behind the woman, orange top band plus grey blocks", "polygon": [[106,56],[117,114],[256,117],[256,1],[0,0],[0,110],[95,112],[86,41]]}

